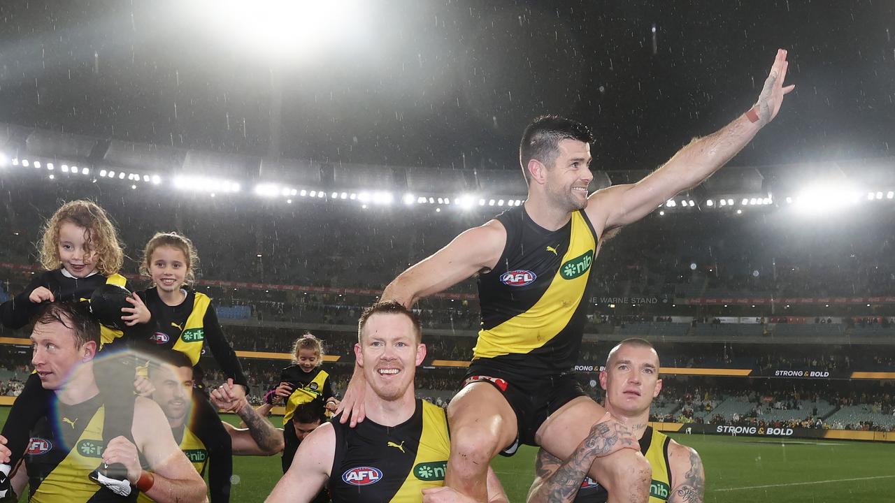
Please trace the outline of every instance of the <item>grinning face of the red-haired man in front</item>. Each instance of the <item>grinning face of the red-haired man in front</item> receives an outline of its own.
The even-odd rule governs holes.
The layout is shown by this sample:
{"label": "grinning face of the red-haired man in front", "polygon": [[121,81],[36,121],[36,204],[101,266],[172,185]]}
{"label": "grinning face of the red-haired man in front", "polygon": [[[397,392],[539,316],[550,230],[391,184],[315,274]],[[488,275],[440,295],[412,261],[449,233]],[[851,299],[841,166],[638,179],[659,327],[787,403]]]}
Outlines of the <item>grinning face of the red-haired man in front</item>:
{"label": "grinning face of the red-haired man in front", "polygon": [[407,316],[377,312],[366,321],[354,354],[376,395],[394,401],[413,396],[413,376],[426,357],[426,346],[417,342]]}

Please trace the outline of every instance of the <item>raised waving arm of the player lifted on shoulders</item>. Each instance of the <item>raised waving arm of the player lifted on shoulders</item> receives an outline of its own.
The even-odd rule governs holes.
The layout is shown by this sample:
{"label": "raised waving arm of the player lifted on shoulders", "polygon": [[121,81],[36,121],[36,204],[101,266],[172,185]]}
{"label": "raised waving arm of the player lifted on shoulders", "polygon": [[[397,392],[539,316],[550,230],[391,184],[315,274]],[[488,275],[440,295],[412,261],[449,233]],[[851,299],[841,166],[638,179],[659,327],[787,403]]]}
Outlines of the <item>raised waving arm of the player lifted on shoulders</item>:
{"label": "raised waving arm of the player lifted on shoulders", "polygon": [[783,96],[795,86],[783,87],[787,52],[778,49],[771,73],[754,107],[720,131],[691,141],[674,157],[637,183],[613,185],[591,194],[587,216],[604,229],[626,226],[646,215],[678,192],[692,189],[737,155],[780,111]]}

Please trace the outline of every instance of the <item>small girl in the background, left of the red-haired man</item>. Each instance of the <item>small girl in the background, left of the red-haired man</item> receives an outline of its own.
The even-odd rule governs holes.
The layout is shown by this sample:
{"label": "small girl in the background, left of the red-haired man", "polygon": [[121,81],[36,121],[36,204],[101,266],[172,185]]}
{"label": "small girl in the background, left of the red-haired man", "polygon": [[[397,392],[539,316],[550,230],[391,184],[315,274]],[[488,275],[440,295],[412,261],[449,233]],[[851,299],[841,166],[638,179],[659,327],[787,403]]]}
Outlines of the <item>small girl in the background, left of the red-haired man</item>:
{"label": "small girl in the background, left of the red-haired man", "polygon": [[[336,410],[338,400],[333,394],[329,373],[320,368],[323,363],[323,344],[320,339],[305,334],[295,341],[292,348],[293,364],[280,372],[280,384],[272,395],[286,398],[286,414],[283,416],[283,473],[292,465],[299,439],[290,423],[298,405],[320,402],[321,415]],[[271,396],[273,398],[273,396]]]}

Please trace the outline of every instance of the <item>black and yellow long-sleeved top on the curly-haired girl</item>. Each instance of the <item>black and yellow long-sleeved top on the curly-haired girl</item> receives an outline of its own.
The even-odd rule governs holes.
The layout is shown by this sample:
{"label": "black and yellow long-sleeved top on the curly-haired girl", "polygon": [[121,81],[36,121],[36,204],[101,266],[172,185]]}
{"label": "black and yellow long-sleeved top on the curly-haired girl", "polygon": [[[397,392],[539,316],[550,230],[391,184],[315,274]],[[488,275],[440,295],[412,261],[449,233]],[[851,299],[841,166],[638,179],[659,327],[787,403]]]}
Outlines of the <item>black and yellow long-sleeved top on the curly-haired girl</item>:
{"label": "black and yellow long-sleeved top on the curly-haired girl", "polygon": [[[94,290],[107,284],[123,286],[128,291],[133,291],[127,278],[120,274],[106,277],[96,273],[88,277],[71,277],[67,272],[63,272],[63,269],[48,270],[31,280],[21,294],[0,305],[0,321],[3,322],[6,328],[22,328],[28,325],[31,318],[44,305],[43,303],[32,303],[28,300],[31,292],[34,292],[39,286],[43,286],[50,292],[53,292],[53,297],[57,302],[80,302],[89,301]],[[100,327],[102,344],[108,344],[121,336],[122,332],[119,330],[107,328],[106,326]]]}

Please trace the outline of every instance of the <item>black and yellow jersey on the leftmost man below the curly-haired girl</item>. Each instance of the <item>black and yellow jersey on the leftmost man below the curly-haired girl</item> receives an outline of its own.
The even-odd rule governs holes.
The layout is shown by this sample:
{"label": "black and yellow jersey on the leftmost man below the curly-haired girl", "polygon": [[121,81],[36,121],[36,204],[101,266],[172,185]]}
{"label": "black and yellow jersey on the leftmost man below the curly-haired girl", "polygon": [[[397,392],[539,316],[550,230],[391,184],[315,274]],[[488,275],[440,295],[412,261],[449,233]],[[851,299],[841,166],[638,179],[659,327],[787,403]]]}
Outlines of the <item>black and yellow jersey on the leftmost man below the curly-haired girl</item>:
{"label": "black and yellow jersey on the leftmost man below the curly-haired girl", "polygon": [[[135,501],[137,491],[118,496],[88,478],[102,462],[103,418],[100,396],[78,405],[55,401],[53,412],[34,430],[25,464],[33,503],[94,503]],[[133,439],[130,439],[133,441]]]}

